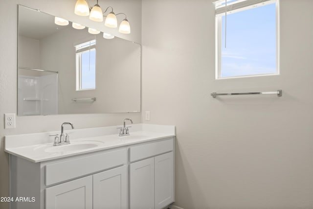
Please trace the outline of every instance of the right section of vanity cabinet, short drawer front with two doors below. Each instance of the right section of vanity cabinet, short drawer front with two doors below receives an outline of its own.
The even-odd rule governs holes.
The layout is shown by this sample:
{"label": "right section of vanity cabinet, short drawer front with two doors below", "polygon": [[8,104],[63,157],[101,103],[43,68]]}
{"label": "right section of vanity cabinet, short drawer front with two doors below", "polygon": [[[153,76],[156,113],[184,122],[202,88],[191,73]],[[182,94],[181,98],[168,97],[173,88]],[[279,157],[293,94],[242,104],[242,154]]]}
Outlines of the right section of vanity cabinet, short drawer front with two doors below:
{"label": "right section of vanity cabinet, short drawer front with two doors below", "polygon": [[174,202],[173,147],[173,139],[166,139],[130,148],[130,161],[144,159],[129,165],[130,209],[163,209]]}

